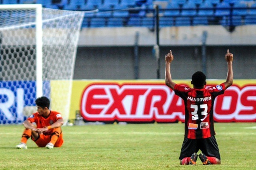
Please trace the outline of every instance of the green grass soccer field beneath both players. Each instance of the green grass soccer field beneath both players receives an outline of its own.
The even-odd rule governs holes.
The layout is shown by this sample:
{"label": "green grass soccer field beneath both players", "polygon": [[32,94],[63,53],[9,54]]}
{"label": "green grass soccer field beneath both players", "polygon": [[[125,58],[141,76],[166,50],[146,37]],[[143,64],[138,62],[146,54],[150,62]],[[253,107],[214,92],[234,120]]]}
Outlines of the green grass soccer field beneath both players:
{"label": "green grass soccer field beneath both players", "polygon": [[[23,129],[0,126],[0,169],[206,168],[200,159],[196,166],[179,164],[182,123],[66,126],[63,146],[51,150],[38,148],[31,139],[27,150],[16,149]],[[207,169],[256,169],[255,123],[215,123],[215,130],[222,164]]]}

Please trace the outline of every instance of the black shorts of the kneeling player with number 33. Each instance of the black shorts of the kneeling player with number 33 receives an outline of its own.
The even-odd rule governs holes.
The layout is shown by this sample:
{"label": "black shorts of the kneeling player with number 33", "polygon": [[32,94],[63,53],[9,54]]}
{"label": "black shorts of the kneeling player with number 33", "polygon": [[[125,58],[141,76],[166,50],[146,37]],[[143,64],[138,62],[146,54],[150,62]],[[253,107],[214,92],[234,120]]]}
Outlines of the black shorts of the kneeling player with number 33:
{"label": "black shorts of the kneeling player with number 33", "polygon": [[180,151],[180,160],[190,157],[194,152],[201,150],[206,156],[216,157],[220,160],[220,152],[215,136],[210,138],[189,139],[184,137]]}

